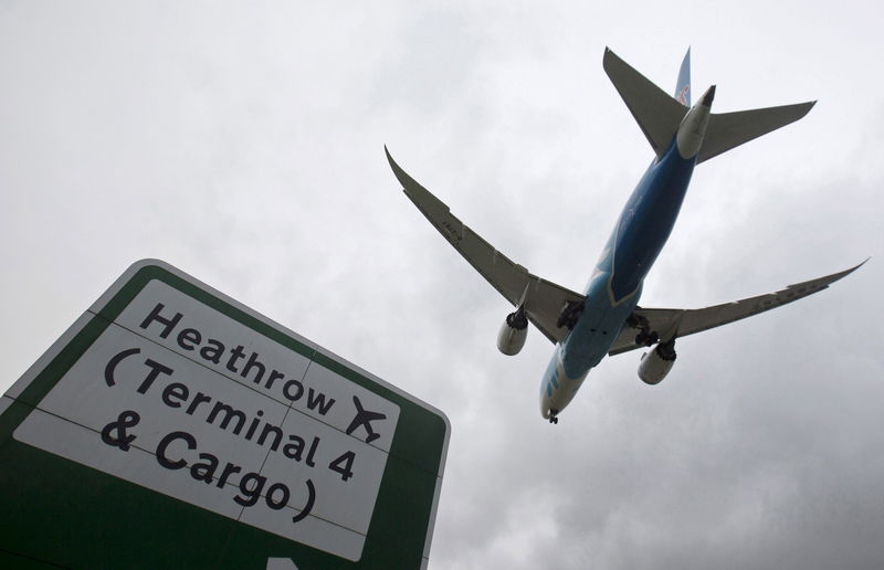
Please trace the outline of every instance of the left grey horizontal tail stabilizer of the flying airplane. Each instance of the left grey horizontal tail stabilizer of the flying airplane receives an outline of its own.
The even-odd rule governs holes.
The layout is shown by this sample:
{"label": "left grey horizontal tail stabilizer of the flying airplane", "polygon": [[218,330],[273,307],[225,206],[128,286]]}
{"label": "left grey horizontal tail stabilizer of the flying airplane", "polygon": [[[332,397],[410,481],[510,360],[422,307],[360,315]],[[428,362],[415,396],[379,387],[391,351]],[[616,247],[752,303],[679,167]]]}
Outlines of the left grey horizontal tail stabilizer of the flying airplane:
{"label": "left grey horizontal tail stabilizer of the flying airplane", "polygon": [[608,48],[604,49],[602,65],[654,152],[662,157],[687,114],[687,107],[651,83]]}

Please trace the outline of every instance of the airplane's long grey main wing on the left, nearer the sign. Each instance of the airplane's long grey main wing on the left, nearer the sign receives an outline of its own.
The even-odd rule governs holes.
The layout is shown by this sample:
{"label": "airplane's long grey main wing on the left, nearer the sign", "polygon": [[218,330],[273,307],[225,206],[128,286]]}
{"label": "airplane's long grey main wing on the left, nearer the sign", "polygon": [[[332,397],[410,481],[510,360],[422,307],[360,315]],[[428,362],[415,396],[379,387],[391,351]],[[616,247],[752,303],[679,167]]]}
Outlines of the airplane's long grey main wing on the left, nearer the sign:
{"label": "airplane's long grey main wing on the left, nearer the sign", "polygon": [[509,257],[498,252],[477,233],[461,222],[441,200],[419,184],[402,170],[385,147],[387,160],[406,196],[430,220],[439,233],[457,250],[513,306],[525,303],[525,313],[534,326],[552,342],[566,337],[569,329],[558,327],[557,320],[568,302],[582,303],[586,298],[565,287],[533,275]]}

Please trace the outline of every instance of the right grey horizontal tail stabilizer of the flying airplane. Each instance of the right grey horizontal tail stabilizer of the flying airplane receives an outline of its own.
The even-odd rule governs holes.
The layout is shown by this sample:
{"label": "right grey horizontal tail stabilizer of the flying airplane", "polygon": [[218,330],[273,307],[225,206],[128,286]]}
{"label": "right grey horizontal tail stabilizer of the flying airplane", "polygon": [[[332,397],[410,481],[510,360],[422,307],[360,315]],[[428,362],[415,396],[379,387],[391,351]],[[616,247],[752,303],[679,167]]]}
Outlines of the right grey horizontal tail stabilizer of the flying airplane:
{"label": "right grey horizontal tail stabilizer of the flying airplane", "polygon": [[800,119],[817,102],[739,110],[737,113],[712,114],[706,127],[706,137],[697,155],[697,165],[734,147],[785,127]]}

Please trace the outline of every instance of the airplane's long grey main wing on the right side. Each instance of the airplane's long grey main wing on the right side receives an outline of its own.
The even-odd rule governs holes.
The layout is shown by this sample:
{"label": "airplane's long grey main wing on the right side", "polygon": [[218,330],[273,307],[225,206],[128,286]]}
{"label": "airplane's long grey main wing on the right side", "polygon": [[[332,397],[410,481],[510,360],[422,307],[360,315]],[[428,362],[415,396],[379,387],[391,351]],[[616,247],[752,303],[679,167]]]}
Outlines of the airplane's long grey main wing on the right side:
{"label": "airplane's long grey main wing on the right side", "polygon": [[[869,260],[866,260],[869,261]],[[863,262],[865,263],[865,262]],[[636,307],[633,314],[638,320],[646,319],[648,329],[656,332],[661,339],[680,338],[701,332],[711,328],[720,327],[735,320],[740,320],[753,315],[758,315],[772,308],[781,307],[787,303],[798,300],[829,287],[838,279],[856,271],[863,263],[840,273],[824,277],[788,285],[785,289],[767,295],[758,295],[733,303],[724,303],[701,309],[654,309]],[[642,348],[644,345],[635,344],[638,327],[624,325],[620,336],[611,345],[608,355],[619,355]]]}

